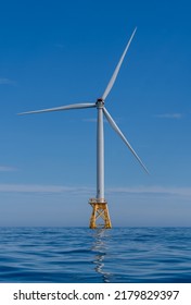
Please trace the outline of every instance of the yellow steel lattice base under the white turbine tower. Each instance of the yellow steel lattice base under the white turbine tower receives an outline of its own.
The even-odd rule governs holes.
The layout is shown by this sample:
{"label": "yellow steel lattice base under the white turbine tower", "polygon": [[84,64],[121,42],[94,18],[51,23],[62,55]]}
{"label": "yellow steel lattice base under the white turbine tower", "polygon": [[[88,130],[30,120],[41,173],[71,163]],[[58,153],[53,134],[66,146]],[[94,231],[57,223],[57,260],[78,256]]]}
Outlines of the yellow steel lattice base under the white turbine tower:
{"label": "yellow steel lattice base under the white turbine tower", "polygon": [[[90,229],[96,229],[96,228],[105,228],[105,229],[111,229],[112,223],[110,220],[110,215],[109,215],[109,208],[106,203],[98,203],[98,202],[92,202],[90,199],[89,204],[92,206],[92,213],[90,218]],[[100,223],[98,221],[101,220]]]}

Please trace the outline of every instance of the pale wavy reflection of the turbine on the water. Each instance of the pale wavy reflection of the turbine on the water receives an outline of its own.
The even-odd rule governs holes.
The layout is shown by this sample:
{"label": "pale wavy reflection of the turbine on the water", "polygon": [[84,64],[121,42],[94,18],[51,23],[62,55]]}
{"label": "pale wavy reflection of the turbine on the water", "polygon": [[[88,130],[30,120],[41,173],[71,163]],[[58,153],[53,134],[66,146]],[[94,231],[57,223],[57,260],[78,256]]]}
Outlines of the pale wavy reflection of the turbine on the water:
{"label": "pale wavy reflection of the turbine on the water", "polygon": [[105,257],[107,255],[109,249],[109,240],[110,240],[110,233],[107,229],[97,229],[93,230],[93,244],[92,244],[92,252],[96,252],[93,264],[94,270],[97,273],[99,273],[102,278],[102,281],[105,283],[111,282],[111,276],[112,273],[109,271],[105,271]]}

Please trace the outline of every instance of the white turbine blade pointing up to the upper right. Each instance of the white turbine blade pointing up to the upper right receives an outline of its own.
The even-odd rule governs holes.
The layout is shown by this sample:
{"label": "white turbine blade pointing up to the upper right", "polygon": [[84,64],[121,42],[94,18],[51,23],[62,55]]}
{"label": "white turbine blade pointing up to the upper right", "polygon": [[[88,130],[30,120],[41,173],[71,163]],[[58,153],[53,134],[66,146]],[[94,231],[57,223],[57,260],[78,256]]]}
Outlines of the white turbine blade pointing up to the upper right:
{"label": "white turbine blade pointing up to the upper right", "polygon": [[132,40],[132,38],[133,38],[135,34],[136,34],[136,30],[137,30],[137,27],[136,27],[135,30],[132,32],[132,35],[130,36],[130,39],[129,39],[129,41],[128,41],[128,44],[127,44],[127,46],[126,46],[126,48],[125,48],[125,50],[124,50],[124,52],[123,52],[123,54],[122,54],[122,57],[120,57],[120,60],[119,60],[117,66],[115,68],[115,71],[114,71],[114,73],[113,73],[113,75],[112,75],[112,77],[111,77],[111,80],[110,80],[110,82],[109,82],[109,85],[107,85],[107,87],[106,87],[106,89],[105,89],[105,91],[104,91],[104,94],[103,94],[103,96],[102,96],[102,99],[103,99],[103,100],[105,100],[105,98],[106,98],[107,95],[110,94],[110,91],[111,91],[111,89],[112,89],[112,87],[113,87],[113,85],[114,85],[114,83],[115,83],[115,80],[116,80],[117,74],[118,74],[118,72],[119,72],[119,69],[120,69],[120,65],[122,65],[122,63],[123,63],[123,61],[124,61],[124,58],[125,58],[125,56],[126,56],[126,53],[127,53],[127,50],[128,50],[128,48],[129,48],[129,46],[130,46],[130,42],[131,42],[131,40]]}

